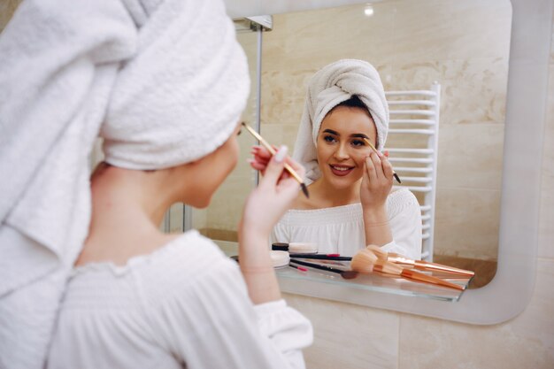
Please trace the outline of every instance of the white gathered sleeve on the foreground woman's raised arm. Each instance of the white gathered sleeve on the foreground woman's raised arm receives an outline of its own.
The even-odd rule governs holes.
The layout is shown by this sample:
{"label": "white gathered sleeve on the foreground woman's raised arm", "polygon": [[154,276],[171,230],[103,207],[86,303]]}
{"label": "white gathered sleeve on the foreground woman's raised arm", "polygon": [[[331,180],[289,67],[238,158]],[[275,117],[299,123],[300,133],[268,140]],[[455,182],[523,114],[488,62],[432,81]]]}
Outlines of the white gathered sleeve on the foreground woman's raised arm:
{"label": "white gathered sleeve on the foreground woman's raised arm", "polygon": [[153,310],[160,342],[188,369],[304,368],[310,321],[284,300],[254,306],[232,263],[183,283]]}

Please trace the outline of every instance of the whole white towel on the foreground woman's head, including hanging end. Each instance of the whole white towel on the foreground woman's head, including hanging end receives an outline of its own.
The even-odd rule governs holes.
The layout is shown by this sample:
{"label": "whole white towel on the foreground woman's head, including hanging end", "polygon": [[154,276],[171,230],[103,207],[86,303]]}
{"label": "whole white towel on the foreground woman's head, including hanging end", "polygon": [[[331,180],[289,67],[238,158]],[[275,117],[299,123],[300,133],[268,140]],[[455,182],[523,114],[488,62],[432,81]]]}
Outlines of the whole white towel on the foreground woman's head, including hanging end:
{"label": "whole white towel on the foreground woman's head, including hanging end", "polygon": [[221,0],[26,0],[0,55],[0,361],[38,368],[98,132],[113,165],[187,163],[231,135],[250,83]]}

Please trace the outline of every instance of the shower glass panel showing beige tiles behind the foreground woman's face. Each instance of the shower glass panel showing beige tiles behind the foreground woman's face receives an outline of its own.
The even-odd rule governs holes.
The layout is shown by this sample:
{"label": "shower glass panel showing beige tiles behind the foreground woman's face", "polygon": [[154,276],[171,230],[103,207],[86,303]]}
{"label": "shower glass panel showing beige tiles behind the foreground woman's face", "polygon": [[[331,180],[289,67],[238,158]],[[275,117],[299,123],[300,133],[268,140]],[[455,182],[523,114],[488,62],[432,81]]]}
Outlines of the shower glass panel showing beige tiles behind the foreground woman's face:
{"label": "shower glass panel showing beige tiles behind the foreground woman's face", "polygon": [[[242,121],[259,132],[259,78],[261,65],[262,29],[249,19],[235,20],[237,40],[248,58],[250,68],[250,96]],[[213,109],[217,109],[216,105]],[[189,205],[174,204],[163,225],[166,232],[181,232],[197,229],[211,238],[228,255],[237,253],[237,226],[242,215],[242,206],[258,182],[258,173],[250,168],[246,159],[250,157],[250,148],[257,142],[247,132],[238,137],[240,154],[233,173],[219,187],[212,197],[211,204],[205,209],[192,208]]]}

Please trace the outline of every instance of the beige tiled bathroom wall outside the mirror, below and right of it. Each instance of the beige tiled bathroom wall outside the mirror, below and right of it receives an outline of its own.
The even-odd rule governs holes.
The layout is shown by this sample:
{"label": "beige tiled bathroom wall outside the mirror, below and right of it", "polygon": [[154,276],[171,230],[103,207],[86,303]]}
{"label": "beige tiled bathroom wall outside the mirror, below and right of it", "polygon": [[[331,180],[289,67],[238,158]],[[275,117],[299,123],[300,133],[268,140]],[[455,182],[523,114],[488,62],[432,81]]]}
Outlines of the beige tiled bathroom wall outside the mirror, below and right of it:
{"label": "beige tiled bathroom wall outside the mirror, below and right of it", "polygon": [[304,351],[308,368],[554,367],[554,37],[552,41],[536,283],[525,311],[502,324],[473,326],[287,295],[315,328],[315,342]]}

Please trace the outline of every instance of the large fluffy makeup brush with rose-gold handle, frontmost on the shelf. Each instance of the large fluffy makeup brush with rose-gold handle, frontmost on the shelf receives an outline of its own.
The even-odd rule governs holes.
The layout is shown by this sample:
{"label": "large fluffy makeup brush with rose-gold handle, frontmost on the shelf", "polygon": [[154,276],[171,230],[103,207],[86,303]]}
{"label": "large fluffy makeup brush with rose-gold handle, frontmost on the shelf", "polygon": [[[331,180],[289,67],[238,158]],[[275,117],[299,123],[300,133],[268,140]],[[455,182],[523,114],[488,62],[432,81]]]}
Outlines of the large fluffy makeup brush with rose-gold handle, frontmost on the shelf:
{"label": "large fluffy makeup brush with rose-gold handle, frontmost on the shelf", "polygon": [[404,269],[402,266],[396,265],[386,260],[378,260],[375,254],[373,254],[373,257],[371,257],[370,254],[373,254],[373,252],[370,250],[365,249],[358,251],[358,253],[352,258],[352,263],[350,264],[352,270],[359,273],[379,272],[393,274],[412,281],[426,282],[442,287],[455,288],[462,291],[465,289],[464,286],[461,286],[459,284],[451,283],[449,281],[443,281],[440,278],[419,273],[412,269]]}

